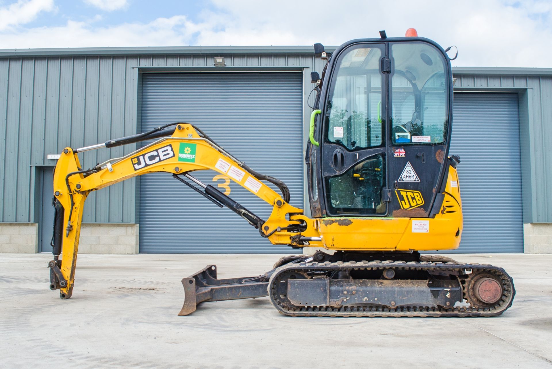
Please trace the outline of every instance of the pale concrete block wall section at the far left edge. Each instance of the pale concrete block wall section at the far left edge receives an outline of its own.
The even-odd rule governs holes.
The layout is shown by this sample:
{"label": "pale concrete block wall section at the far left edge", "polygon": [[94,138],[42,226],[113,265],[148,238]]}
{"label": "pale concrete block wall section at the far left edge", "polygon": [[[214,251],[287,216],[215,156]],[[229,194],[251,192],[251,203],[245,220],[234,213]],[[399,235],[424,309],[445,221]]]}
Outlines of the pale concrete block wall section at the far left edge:
{"label": "pale concrete block wall section at the far left edge", "polygon": [[0,253],[38,253],[38,224],[0,223]]}

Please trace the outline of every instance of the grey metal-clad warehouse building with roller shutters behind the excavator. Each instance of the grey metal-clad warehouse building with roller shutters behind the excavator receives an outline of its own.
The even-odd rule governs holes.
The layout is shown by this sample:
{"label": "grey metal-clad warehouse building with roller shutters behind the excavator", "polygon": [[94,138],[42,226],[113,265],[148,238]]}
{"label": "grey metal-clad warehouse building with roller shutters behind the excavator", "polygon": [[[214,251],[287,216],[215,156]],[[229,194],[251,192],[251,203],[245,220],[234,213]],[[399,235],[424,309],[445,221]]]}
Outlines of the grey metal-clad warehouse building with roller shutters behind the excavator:
{"label": "grey metal-clad warehouse building with roller shutters behind the excavator", "polygon": [[[215,67],[214,57],[226,66]],[[199,126],[308,206],[304,148],[312,47],[146,47],[0,51],[0,252],[44,252],[52,169],[83,147],[173,121]],[[552,253],[552,68],[453,68],[453,139],[464,233],[459,252]],[[310,98],[312,101],[312,97]],[[85,152],[84,168],[135,145]],[[270,208],[201,173],[253,212]],[[93,192],[81,253],[290,253],[169,174]]]}

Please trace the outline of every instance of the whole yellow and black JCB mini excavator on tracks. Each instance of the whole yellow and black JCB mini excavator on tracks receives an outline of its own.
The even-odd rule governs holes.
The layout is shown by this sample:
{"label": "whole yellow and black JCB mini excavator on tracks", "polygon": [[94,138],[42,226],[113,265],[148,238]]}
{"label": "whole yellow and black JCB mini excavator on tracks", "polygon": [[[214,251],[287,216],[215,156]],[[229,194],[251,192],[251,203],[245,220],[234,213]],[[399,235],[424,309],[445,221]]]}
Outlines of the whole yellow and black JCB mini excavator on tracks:
{"label": "whole yellow and black JCB mini excavator on tracks", "polygon": [[[216,266],[208,265],[182,280],[179,315],[205,301],[263,296],[294,317],[502,314],[515,294],[505,270],[420,254],[458,248],[460,159],[449,156],[450,58],[415,30],[407,36],[387,38],[381,31],[380,38],[346,42],[331,55],[315,45],[315,55],[326,66],[321,77],[311,74],[316,100],[306,164],[312,217],[289,204],[282,181],[255,172],[189,123],[63,149],[54,174],[50,288],[59,289],[64,300],[72,295],[88,194],[137,175],[166,172],[217,206],[230,208],[273,244],[319,248],[311,256],[286,256],[259,276],[219,280]],[[84,151],[152,139],[91,169],[79,163],[78,153]],[[266,201],[272,206],[268,219],[193,176],[208,169]]]}

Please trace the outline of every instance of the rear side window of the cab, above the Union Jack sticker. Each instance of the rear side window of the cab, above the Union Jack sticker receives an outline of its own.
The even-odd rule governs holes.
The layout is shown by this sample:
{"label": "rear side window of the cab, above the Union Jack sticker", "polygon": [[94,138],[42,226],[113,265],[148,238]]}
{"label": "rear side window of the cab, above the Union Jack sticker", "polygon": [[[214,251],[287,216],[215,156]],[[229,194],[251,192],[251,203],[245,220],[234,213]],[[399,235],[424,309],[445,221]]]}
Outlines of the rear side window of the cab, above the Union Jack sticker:
{"label": "rear side window of the cab, above the Union Jack sticker", "polygon": [[394,145],[443,143],[448,92],[443,55],[426,43],[397,42],[391,53],[391,140]]}

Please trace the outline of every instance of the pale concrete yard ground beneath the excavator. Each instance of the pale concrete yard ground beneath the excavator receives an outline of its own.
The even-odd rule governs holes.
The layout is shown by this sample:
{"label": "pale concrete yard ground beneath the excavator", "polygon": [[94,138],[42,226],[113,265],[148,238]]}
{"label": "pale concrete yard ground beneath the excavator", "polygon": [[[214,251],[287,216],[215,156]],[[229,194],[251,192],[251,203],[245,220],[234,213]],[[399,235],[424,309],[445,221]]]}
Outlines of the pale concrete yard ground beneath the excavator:
{"label": "pale concrete yard ground beneath the excavator", "polygon": [[291,318],[268,297],[204,303],[181,278],[257,275],[281,255],[79,255],[73,297],[50,291],[50,254],[2,254],[0,366],[287,368],[552,367],[552,255],[457,254],[502,266],[513,306],[496,318]]}

